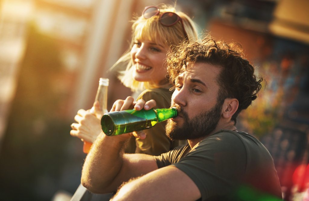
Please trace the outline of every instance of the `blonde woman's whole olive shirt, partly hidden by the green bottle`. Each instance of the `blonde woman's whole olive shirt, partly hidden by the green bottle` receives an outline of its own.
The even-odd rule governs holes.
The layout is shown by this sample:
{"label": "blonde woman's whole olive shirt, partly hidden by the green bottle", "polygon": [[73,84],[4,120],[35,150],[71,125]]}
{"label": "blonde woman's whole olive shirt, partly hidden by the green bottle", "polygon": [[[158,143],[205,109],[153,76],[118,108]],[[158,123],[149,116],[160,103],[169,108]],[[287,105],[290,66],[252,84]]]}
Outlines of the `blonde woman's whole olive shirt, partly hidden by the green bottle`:
{"label": "blonde woman's whole olive shirt, partly hidden by the green bottle", "polygon": [[[149,101],[154,99],[157,103],[155,108],[169,108],[171,106],[171,96],[173,91],[168,88],[157,88],[144,90],[137,98]],[[126,153],[145,153],[159,156],[175,147],[186,144],[185,140],[169,140],[165,135],[165,125],[167,121],[156,124],[153,128],[146,129],[146,138],[144,140],[132,137],[125,149]]]}

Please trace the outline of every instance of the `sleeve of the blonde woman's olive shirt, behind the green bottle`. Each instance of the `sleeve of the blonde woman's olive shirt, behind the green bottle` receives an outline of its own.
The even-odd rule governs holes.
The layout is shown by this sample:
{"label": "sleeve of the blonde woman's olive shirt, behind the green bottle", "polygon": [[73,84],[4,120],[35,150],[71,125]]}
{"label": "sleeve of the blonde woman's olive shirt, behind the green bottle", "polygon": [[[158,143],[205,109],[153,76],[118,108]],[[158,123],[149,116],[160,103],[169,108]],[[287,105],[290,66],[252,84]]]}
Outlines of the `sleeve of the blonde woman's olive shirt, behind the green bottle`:
{"label": "sleeve of the blonde woman's olive shirt, behind the green bottle", "polygon": [[[140,94],[137,100],[143,99],[149,101],[154,99],[157,103],[155,108],[169,108],[170,100],[162,94],[146,90]],[[154,156],[158,156],[161,153],[166,153],[171,149],[171,141],[165,135],[165,125],[167,121],[163,121],[155,125],[155,127],[146,129],[146,138],[144,140],[136,139],[136,151],[135,153],[146,153]]]}

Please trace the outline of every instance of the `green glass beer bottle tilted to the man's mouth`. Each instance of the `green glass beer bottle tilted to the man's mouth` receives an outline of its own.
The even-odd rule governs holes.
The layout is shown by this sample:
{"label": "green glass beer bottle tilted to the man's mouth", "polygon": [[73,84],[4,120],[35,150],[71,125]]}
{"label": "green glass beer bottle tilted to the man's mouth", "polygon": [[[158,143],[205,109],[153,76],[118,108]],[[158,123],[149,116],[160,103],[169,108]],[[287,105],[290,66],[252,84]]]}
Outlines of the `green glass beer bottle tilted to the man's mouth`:
{"label": "green glass beer bottle tilted to the man's mouth", "polygon": [[106,135],[114,136],[152,128],[155,124],[176,116],[175,108],[114,111],[103,115],[101,126]]}

